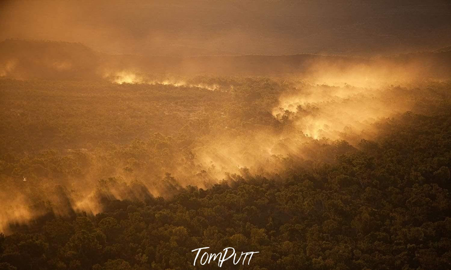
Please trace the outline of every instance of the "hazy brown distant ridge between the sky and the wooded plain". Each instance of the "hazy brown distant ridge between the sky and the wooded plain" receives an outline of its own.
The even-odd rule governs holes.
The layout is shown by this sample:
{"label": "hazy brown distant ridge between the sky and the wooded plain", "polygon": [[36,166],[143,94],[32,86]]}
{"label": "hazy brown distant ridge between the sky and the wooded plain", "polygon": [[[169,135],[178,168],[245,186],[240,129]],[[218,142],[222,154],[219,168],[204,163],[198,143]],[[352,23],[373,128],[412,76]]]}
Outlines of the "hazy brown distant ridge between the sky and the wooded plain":
{"label": "hazy brown distant ridge between the sky and the wooded plain", "polygon": [[426,53],[368,59],[318,54],[241,56],[140,56],[104,54],[81,44],[48,40],[3,40],[0,42],[0,76],[18,79],[98,80],[112,72],[201,73],[221,76],[299,75],[321,68],[403,68],[416,65],[424,75],[451,73],[451,46]]}

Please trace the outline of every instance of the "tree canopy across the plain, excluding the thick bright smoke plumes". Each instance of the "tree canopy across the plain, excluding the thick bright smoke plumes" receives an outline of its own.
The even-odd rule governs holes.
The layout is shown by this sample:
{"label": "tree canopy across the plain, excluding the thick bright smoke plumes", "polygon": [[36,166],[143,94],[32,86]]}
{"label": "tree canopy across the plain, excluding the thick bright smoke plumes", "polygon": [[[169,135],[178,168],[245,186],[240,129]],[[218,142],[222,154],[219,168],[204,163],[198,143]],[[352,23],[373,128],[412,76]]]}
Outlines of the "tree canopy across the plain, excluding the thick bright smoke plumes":
{"label": "tree canopy across the plain, excluding the thick bright smoke plumes", "polygon": [[[260,252],[253,269],[451,268],[448,106],[381,119],[374,140],[312,140],[317,160],[274,157],[283,166],[272,177],[244,168],[207,189],[184,187],[169,172],[196,167],[197,137],[226,126],[238,135],[259,125],[278,129],[296,117],[279,121],[262,109],[274,105],[284,83],[235,80],[241,86],[232,92],[1,81],[11,103],[2,101],[0,186],[30,195],[36,209],[50,214],[0,234],[0,268],[190,269],[194,248],[229,246]],[[260,85],[259,95],[247,84]],[[189,110],[196,106],[202,109]],[[111,168],[159,175],[166,199],[152,196],[142,181],[111,176]],[[207,171],[196,173],[209,180]],[[84,183],[93,174],[102,175],[85,180],[101,207],[95,216],[73,209],[79,191],[51,184]],[[58,212],[64,204],[72,211]]]}

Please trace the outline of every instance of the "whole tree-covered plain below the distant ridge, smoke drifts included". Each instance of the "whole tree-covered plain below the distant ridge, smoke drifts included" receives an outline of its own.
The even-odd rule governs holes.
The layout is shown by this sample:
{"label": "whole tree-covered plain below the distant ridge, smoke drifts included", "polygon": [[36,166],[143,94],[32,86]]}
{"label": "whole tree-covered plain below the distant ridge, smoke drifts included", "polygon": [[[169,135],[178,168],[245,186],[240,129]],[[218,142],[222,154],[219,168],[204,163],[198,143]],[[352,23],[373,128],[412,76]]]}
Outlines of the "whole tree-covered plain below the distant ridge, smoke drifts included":
{"label": "whole tree-covered plain below the distant ridge, smoke drifts included", "polygon": [[451,267],[449,81],[178,80],[0,81],[1,269]]}

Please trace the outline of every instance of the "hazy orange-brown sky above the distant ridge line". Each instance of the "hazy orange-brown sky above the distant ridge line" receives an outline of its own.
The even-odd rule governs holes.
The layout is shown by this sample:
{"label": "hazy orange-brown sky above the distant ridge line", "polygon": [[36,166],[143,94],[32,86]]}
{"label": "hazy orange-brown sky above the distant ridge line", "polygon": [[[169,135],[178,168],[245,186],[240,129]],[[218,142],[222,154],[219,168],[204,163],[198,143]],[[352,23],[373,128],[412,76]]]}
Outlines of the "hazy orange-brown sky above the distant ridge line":
{"label": "hazy orange-brown sky above the distant ridge line", "polygon": [[0,3],[2,40],[74,41],[118,54],[393,54],[451,45],[448,0]]}

